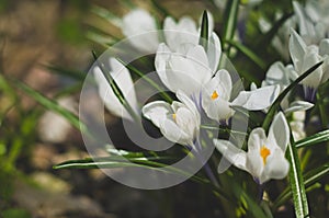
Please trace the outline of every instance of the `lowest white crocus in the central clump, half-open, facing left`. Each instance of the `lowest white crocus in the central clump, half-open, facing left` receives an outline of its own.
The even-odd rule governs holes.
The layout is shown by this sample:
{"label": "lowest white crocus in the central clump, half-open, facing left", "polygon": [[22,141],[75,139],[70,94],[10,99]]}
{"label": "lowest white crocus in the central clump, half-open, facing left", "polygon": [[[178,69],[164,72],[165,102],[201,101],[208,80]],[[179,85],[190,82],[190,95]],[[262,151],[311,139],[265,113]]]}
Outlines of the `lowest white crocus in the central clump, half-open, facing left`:
{"label": "lowest white crocus in the central clump, half-open, facing left", "polygon": [[170,141],[193,146],[198,136],[201,118],[195,104],[182,91],[177,92],[181,101],[170,105],[163,101],[146,104],[141,112]]}

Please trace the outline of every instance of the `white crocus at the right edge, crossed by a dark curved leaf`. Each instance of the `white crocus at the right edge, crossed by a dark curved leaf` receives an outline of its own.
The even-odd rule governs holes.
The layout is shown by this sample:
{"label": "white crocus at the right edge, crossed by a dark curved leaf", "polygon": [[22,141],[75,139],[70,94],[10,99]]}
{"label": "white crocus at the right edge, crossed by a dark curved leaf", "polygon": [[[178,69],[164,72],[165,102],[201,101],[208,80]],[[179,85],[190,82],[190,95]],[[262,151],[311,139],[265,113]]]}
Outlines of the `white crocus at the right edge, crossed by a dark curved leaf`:
{"label": "white crocus at the right edge, crossed by a dark curved leaf", "polygon": [[308,70],[320,60],[325,62],[311,74],[305,78],[302,83],[310,88],[318,88],[320,83],[329,78],[329,38],[322,39],[320,45],[307,46],[303,38],[292,30],[290,38],[290,53],[294,64],[295,78]]}

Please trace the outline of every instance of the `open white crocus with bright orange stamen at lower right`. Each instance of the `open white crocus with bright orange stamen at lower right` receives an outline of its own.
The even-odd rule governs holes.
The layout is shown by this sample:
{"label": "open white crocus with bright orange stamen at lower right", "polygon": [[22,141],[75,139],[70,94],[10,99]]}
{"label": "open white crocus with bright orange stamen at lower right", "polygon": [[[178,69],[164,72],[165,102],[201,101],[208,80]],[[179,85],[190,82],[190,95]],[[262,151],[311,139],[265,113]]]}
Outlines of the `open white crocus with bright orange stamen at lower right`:
{"label": "open white crocus with bright orange stamen at lower right", "polygon": [[268,137],[263,128],[256,128],[250,133],[247,152],[228,140],[214,139],[214,145],[228,161],[263,184],[271,179],[281,180],[287,175],[290,164],[284,153],[288,141],[288,125],[283,113],[279,113]]}

